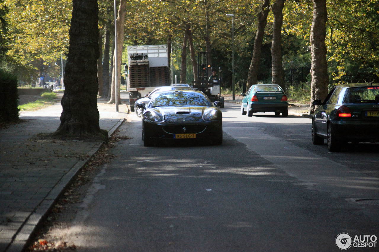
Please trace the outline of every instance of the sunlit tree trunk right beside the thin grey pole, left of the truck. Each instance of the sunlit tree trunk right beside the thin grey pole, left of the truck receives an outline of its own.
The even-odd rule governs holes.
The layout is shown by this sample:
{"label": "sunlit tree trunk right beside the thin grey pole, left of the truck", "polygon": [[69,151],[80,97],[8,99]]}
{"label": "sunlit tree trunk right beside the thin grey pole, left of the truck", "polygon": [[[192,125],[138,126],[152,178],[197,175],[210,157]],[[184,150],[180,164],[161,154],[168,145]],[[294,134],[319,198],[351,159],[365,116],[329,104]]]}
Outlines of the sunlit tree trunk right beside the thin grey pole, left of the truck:
{"label": "sunlit tree trunk right beside the thin grey pole, left of the truck", "polygon": [[[117,50],[114,53],[117,53],[117,61],[113,62],[113,75],[117,74],[117,83],[115,83],[115,78],[112,78],[112,87],[111,87],[111,98],[108,103],[116,103],[116,91],[117,97],[120,101],[120,82],[121,82],[121,56],[122,56],[122,47],[124,45],[124,25],[125,25],[125,15],[126,15],[126,1],[120,0],[119,9],[117,11]],[[116,57],[113,57],[113,61]]]}

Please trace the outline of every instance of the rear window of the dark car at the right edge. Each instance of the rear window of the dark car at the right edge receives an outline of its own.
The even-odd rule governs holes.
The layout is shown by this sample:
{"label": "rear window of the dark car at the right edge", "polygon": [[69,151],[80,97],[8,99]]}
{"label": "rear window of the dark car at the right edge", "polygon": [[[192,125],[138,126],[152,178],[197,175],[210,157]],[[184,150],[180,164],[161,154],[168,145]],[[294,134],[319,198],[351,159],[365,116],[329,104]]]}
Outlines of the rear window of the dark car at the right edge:
{"label": "rear window of the dark car at the right edge", "polygon": [[346,89],[343,103],[378,103],[379,87],[350,87]]}

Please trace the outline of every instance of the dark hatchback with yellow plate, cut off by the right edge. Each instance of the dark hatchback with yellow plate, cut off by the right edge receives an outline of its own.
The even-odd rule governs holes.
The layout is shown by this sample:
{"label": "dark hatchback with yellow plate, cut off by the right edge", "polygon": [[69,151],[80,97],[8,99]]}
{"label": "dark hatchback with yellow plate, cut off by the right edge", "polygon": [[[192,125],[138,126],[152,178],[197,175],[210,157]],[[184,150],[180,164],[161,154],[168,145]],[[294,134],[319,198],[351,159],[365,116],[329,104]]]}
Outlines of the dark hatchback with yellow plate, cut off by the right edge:
{"label": "dark hatchback with yellow plate, cut off by the right edge", "polygon": [[312,142],[340,151],[348,142],[379,142],[379,84],[334,87],[312,115]]}

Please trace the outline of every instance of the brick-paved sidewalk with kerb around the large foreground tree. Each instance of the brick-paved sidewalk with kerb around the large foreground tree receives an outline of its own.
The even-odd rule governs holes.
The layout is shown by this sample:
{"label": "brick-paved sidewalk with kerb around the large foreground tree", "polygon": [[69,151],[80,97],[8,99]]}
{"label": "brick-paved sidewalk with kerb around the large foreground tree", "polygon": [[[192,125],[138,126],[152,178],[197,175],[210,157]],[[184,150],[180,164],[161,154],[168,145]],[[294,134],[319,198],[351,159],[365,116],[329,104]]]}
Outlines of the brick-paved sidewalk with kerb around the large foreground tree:
{"label": "brick-paved sidewalk with kerb around the large foreground tree", "polygon": [[[127,117],[125,105],[98,103],[100,128],[111,135]],[[33,140],[60,125],[60,103],[20,112],[22,123],[0,130],[0,251],[20,252],[42,216],[100,141]]]}

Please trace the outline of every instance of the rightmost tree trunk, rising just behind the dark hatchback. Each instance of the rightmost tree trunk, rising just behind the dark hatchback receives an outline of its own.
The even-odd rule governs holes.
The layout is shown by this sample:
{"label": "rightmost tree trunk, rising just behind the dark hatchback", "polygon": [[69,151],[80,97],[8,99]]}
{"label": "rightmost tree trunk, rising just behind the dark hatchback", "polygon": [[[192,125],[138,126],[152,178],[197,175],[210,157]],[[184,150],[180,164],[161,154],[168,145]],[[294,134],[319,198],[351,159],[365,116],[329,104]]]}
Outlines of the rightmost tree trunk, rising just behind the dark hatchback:
{"label": "rightmost tree trunk, rising just behind the dark hatchback", "polygon": [[326,62],[326,0],[313,0],[313,18],[310,30],[311,65],[311,98],[309,111],[313,113],[315,106],[313,101],[324,99],[328,93],[329,76]]}

